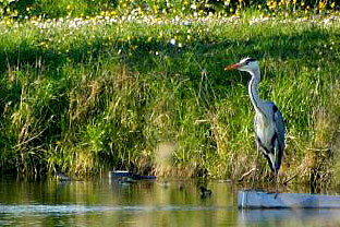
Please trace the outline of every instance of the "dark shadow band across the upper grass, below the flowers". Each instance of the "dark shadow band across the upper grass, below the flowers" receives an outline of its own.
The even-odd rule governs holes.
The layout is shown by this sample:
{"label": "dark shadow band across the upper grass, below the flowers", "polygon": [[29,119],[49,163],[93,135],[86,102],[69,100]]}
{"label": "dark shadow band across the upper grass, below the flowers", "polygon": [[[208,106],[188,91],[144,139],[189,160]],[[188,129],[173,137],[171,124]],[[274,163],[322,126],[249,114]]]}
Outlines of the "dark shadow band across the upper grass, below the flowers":
{"label": "dark shadow band across the upper grass, below the flowers", "polygon": [[[201,79],[197,75],[206,69],[210,74],[210,80],[218,85],[223,81],[220,77],[223,74],[223,64],[239,61],[247,56],[257,58],[259,61],[265,58],[274,61],[294,60],[302,64],[313,64],[319,57],[319,51],[325,50],[323,44],[328,37],[326,31],[312,28],[295,35],[264,35],[240,40],[232,40],[227,36],[223,41],[218,43],[196,39],[179,48],[165,41],[147,43],[148,37],[138,36],[129,41],[108,43],[106,39],[98,39],[90,45],[87,43],[74,45],[69,51],[64,49],[59,53],[52,49],[34,47],[23,41],[15,49],[0,50],[0,73],[2,74],[9,67],[41,63],[49,69],[48,76],[54,77],[58,73],[53,71],[70,60],[74,64],[86,64],[86,59],[89,57],[94,60],[98,57],[113,57],[120,58],[132,70],[141,73],[158,69],[168,76],[182,74],[191,80]],[[134,46],[136,48],[132,48]],[[327,51],[325,56],[329,60],[335,57],[332,51]],[[163,69],[160,70],[161,68]]]}

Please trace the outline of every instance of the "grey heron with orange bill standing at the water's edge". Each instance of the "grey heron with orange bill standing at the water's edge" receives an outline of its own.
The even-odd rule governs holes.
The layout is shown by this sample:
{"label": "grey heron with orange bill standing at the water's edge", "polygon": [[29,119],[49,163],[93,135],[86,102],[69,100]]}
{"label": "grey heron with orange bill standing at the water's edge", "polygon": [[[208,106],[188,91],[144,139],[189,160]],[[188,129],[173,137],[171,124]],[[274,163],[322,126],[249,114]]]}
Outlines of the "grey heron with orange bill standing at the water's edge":
{"label": "grey heron with orange bill standing at the water's edge", "polygon": [[280,169],[284,150],[284,123],[281,112],[272,101],[258,97],[260,73],[258,61],[253,58],[242,59],[239,63],[224,67],[224,70],[238,69],[248,72],[252,79],[248,84],[248,95],[255,109],[254,131],[257,151],[267,158],[270,169],[277,174]]}

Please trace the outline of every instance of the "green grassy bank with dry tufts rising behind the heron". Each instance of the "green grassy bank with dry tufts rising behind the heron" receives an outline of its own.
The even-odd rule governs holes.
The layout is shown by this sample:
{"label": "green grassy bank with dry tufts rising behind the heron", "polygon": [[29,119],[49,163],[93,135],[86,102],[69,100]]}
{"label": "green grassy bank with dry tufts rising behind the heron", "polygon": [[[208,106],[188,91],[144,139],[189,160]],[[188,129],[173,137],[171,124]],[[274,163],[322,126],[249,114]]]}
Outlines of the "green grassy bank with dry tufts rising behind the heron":
{"label": "green grassy bank with dry tufts rising behind the heron", "polygon": [[28,20],[0,31],[3,171],[236,180],[255,166],[254,111],[248,75],[223,65],[251,56],[260,97],[286,119],[281,181],[338,176],[338,17]]}

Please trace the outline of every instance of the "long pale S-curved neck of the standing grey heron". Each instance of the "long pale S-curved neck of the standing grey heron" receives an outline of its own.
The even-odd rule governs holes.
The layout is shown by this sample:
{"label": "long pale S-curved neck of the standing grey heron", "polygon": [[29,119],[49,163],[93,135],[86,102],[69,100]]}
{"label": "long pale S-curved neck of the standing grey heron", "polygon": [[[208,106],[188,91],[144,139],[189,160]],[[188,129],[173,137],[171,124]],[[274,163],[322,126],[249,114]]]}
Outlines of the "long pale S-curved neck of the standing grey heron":
{"label": "long pale S-curved neck of the standing grey heron", "polygon": [[258,97],[259,70],[248,71],[248,73],[252,75],[252,80],[248,85],[251,101],[256,111],[266,116],[264,111],[264,101]]}

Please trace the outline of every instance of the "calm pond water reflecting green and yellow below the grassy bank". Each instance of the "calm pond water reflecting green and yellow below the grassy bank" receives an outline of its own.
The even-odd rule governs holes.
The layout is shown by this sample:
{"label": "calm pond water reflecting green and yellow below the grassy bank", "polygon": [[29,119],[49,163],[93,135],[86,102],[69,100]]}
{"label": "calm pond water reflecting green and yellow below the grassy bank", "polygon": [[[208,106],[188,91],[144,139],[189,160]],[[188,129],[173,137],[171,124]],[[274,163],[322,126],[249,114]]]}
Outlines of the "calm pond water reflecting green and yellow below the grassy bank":
{"label": "calm pond water reflecting green and yellow below the grassy bank", "polygon": [[0,178],[0,226],[340,226],[340,210],[239,211],[238,190],[226,181]]}

